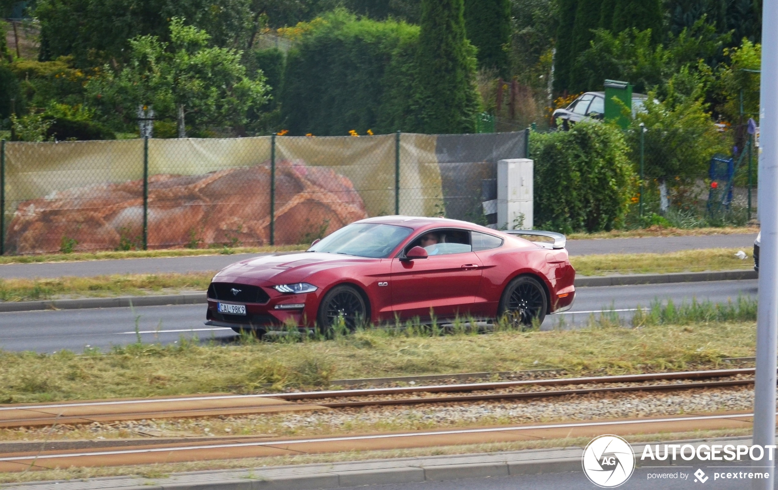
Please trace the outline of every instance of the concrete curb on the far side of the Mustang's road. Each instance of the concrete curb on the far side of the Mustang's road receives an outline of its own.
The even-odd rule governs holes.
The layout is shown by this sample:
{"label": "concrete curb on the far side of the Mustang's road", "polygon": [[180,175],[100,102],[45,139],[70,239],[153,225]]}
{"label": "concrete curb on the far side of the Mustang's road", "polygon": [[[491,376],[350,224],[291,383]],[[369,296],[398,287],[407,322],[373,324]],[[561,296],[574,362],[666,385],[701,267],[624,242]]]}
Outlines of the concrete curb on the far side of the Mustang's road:
{"label": "concrete curb on the far side of the Mustang's road", "polygon": [[[673,272],[671,274],[605,275],[576,278],[576,287],[670,284],[673,282],[741,281],[755,279],[756,271]],[[127,308],[128,306],[166,306],[205,304],[204,292],[159,296],[121,296],[118,298],[48,299],[44,301],[7,301],[0,303],[0,313],[40,310],[84,310],[87,308]]]}

